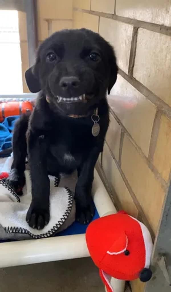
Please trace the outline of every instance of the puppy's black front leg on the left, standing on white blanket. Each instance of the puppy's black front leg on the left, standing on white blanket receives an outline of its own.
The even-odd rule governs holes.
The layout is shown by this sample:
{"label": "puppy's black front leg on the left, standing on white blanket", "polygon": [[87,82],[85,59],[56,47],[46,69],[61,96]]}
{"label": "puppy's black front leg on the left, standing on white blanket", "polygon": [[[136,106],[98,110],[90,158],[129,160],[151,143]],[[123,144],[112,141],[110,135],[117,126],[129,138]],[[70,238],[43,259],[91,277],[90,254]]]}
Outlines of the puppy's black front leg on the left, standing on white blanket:
{"label": "puppy's black front leg on the left, standing on white blanket", "polygon": [[47,142],[31,130],[28,135],[28,153],[32,181],[32,202],[26,220],[30,227],[43,229],[48,224],[50,182],[46,166]]}

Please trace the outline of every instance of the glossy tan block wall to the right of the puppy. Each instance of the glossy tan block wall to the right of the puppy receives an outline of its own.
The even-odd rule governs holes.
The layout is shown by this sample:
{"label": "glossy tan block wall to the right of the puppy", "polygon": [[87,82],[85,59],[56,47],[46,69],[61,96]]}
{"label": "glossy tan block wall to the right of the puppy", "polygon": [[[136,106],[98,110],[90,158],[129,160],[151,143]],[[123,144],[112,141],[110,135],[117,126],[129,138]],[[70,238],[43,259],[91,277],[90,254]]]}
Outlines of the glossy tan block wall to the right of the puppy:
{"label": "glossy tan block wall to the right of the puppy", "polygon": [[[115,49],[118,79],[97,168],[118,209],[153,238],[170,182],[171,1],[74,0],[73,27],[99,32]],[[144,291],[139,280],[133,292]]]}

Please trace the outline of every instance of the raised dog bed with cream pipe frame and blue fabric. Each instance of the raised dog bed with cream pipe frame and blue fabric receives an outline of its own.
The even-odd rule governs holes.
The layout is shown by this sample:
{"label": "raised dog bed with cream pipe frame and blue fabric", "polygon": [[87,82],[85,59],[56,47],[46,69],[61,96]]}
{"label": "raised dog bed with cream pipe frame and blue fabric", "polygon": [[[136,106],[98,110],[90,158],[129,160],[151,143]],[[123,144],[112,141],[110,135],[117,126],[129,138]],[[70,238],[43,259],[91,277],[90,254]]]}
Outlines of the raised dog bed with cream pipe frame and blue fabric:
{"label": "raised dog bed with cream pipe frame and blue fabric", "polygon": [[[33,98],[33,96],[36,97],[36,94],[23,94],[20,95],[20,98],[29,99]],[[1,96],[1,98],[6,97],[13,98],[13,96],[11,97],[9,95]],[[18,96],[15,96],[15,98],[18,98]],[[5,165],[5,167],[8,169],[8,165]],[[67,185],[73,191],[72,187],[69,185],[71,179],[68,180],[68,184],[66,184],[66,182],[67,181],[60,186],[63,187],[64,185]],[[93,220],[98,218],[98,216],[102,217],[116,213],[116,208],[96,170],[94,172],[92,194],[96,207],[96,213]],[[86,227],[86,225],[80,225],[75,222],[55,237],[36,240],[11,241],[8,239],[7,241],[1,241],[0,267],[89,257],[90,254],[85,241]],[[111,285],[116,292],[123,292],[125,281],[112,278]]]}

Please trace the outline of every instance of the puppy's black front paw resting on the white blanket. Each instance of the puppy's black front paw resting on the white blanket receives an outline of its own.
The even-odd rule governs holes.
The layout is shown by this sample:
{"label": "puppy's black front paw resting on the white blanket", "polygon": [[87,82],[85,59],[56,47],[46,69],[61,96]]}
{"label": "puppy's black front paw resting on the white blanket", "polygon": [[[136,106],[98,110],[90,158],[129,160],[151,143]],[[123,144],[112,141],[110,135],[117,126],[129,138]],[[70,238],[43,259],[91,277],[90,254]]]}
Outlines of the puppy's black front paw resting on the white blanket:
{"label": "puppy's black front paw resting on the white blanket", "polygon": [[49,208],[38,208],[31,203],[26,216],[26,221],[30,227],[41,230],[49,223],[49,220]]}

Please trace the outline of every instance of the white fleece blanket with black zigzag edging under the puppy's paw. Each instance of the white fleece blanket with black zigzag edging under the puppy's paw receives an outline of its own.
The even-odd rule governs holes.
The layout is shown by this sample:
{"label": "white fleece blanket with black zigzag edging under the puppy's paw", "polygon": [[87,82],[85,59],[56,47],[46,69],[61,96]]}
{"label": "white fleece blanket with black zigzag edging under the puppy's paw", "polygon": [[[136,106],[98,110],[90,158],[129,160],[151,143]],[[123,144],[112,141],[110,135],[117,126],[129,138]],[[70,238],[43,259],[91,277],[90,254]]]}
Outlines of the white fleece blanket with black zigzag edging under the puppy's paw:
{"label": "white fleece blanket with black zigzag edging under the puppy's paw", "polygon": [[25,171],[26,184],[23,196],[18,195],[0,180],[0,239],[28,239],[53,236],[71,225],[75,220],[75,202],[68,188],[57,187],[57,180],[50,179],[50,222],[43,230],[29,227],[26,214],[31,203],[31,180]]}

